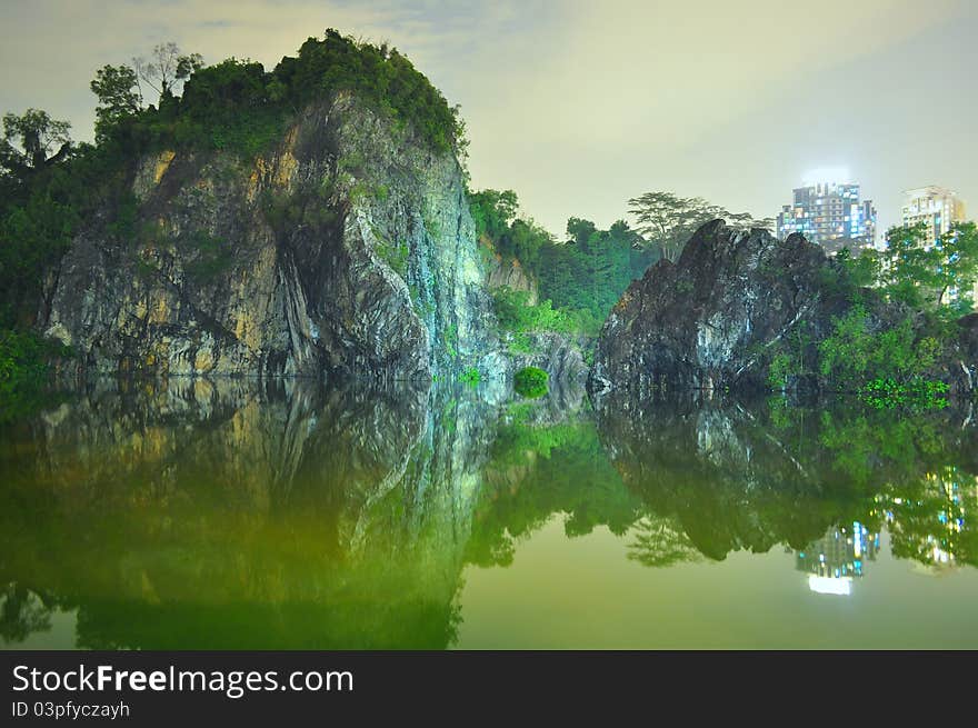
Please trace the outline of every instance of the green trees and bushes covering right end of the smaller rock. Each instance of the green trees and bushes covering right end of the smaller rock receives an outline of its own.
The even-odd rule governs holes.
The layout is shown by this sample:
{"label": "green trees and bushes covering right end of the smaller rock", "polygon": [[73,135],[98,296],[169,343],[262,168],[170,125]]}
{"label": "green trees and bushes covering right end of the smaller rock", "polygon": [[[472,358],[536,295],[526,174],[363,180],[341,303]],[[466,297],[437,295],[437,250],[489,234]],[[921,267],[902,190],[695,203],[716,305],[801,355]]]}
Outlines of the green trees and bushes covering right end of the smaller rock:
{"label": "green trees and bushes covering right end of the smaller rock", "polygon": [[817,377],[832,389],[858,391],[875,407],[942,407],[947,385],[935,367],[970,311],[978,279],[978,232],[958,225],[935,246],[924,227],[892,228],[884,251],[844,249],[826,276],[846,302],[827,336],[816,340],[799,322],[774,348],[769,381],[784,389]]}

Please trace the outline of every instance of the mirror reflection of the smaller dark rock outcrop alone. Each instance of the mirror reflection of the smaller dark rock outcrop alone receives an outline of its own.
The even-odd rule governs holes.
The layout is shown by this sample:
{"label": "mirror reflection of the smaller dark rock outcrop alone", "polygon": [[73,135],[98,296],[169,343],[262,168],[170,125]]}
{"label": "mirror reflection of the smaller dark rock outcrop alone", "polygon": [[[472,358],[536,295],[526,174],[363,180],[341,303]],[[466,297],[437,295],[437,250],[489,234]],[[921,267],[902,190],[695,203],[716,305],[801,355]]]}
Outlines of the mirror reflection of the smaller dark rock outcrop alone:
{"label": "mirror reflection of the smaller dark rock outcrop alone", "polygon": [[778,542],[800,548],[838,508],[812,463],[748,409],[606,399],[599,422],[625,483],[709,558]]}

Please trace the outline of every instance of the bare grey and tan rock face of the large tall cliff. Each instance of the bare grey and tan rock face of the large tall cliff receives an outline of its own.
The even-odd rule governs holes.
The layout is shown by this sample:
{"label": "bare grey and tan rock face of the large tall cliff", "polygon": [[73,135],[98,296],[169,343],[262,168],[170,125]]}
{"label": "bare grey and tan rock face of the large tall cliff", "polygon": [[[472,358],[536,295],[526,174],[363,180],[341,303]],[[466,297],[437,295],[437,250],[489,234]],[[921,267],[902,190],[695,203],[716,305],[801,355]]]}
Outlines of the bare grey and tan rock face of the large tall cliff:
{"label": "bare grey and tan rock face of the large tall cliff", "polygon": [[42,328],[99,372],[505,373],[451,152],[356,97],[275,149],[164,150],[63,259]]}

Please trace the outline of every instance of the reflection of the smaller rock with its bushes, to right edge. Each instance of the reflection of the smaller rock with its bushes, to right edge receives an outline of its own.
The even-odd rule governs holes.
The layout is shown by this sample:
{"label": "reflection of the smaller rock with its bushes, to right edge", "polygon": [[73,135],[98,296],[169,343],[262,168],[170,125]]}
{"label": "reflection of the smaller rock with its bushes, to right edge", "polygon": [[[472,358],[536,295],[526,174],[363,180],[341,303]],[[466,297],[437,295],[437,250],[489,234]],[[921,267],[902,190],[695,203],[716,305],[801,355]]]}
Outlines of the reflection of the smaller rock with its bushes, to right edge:
{"label": "reflection of the smaller rock with its bushes, to right edge", "polygon": [[[874,496],[919,500],[930,473],[968,462],[975,448],[974,426],[961,429],[956,413],[895,417],[846,402],[636,402],[611,393],[598,400],[597,411],[602,442],[626,486],[650,513],[671,521],[653,529],[676,535],[661,547],[666,557],[669,549],[681,552],[687,538],[702,555],[722,559],[779,542],[804,550],[839,522],[859,520],[876,532],[884,516]],[[914,538],[927,541],[922,533]],[[898,543],[895,554],[918,558]],[[655,555],[640,560],[661,561]]]}

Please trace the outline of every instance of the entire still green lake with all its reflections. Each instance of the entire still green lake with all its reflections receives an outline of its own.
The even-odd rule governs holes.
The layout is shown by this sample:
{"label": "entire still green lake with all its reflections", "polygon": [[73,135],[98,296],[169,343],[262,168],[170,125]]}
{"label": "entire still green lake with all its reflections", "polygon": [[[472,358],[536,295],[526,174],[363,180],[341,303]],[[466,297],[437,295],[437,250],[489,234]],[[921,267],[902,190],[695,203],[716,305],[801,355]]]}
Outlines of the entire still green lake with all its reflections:
{"label": "entire still green lake with all its reflections", "polygon": [[978,647],[970,406],[100,381],[0,421],[6,648]]}

